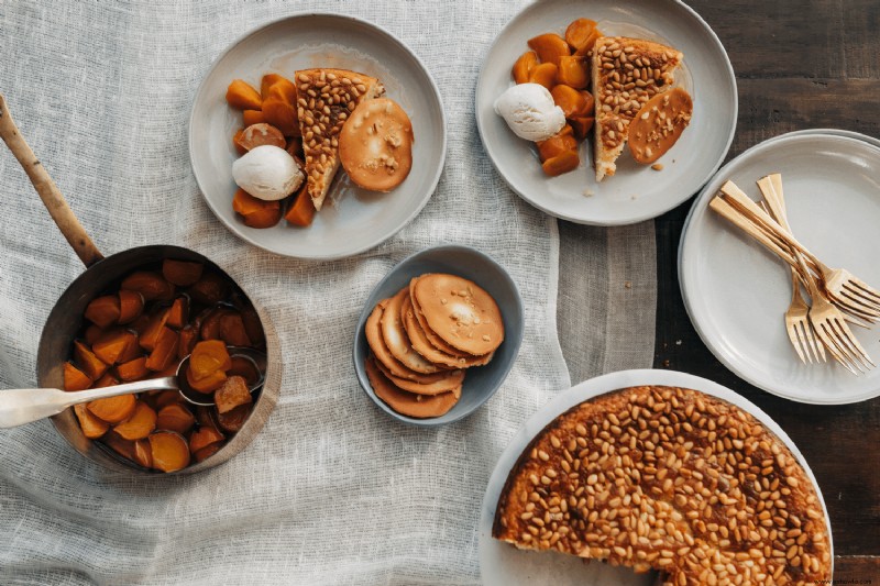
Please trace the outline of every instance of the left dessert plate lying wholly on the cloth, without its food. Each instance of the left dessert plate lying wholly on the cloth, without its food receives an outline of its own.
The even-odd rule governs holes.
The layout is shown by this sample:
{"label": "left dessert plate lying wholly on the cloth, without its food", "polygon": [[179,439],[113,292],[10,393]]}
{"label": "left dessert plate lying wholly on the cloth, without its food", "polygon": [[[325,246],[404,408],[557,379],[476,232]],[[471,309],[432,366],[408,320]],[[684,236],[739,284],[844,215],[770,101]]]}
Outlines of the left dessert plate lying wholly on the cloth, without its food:
{"label": "left dessert plate lying wholly on the cloth, without its food", "polygon": [[[232,211],[232,163],[239,157],[232,135],[241,112],[226,102],[227,86],[241,78],[258,88],[264,74],[288,78],[310,67],[361,71],[382,80],[386,96],[413,121],[413,169],[388,194],[353,185],[340,168],[328,200],[308,228],[282,220],[274,228],[244,225]],[[418,57],[391,33],[340,14],[296,14],[250,32],[223,53],[201,82],[189,120],[189,158],[208,207],[243,240],[276,254],[299,258],[341,258],[391,237],[428,202],[447,150],[440,91]]]}

